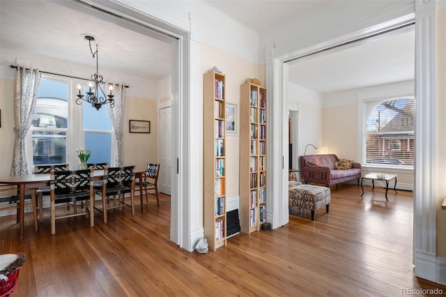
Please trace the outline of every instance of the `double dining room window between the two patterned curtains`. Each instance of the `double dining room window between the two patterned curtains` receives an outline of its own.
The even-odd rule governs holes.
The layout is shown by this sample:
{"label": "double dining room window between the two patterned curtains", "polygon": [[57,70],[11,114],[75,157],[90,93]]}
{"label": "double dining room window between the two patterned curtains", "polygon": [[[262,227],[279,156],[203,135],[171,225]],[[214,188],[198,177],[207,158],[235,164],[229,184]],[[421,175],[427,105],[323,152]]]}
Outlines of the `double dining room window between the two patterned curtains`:
{"label": "double dining room window between the two patterned curtains", "polygon": [[91,148],[89,162],[110,162],[114,135],[107,106],[96,110],[87,102],[77,105],[71,99],[77,91],[71,88],[77,84],[56,79],[40,79],[28,135],[30,167],[69,163],[71,169],[79,169],[78,148]]}

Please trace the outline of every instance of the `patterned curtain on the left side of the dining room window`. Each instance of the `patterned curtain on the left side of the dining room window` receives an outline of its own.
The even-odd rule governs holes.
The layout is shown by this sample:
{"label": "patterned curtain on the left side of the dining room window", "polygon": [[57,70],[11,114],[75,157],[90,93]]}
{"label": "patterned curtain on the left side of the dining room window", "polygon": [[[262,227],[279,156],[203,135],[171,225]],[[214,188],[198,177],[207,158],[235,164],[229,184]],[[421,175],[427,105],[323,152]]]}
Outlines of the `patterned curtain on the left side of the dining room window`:
{"label": "patterned curtain on the left side of the dining room window", "polygon": [[33,121],[39,82],[38,69],[17,67],[14,98],[15,144],[11,176],[28,174],[25,139]]}

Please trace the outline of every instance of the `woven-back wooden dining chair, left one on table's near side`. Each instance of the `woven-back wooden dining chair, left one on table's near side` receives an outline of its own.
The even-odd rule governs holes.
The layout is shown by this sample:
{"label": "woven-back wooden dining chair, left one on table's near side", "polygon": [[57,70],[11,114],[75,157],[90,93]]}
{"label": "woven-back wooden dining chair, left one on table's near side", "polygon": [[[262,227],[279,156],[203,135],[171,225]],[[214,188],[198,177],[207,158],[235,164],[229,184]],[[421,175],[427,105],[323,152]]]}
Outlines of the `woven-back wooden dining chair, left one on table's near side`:
{"label": "woven-back wooden dining chair, left one on table's near side", "polygon": [[[51,210],[51,234],[56,234],[56,220],[85,215],[90,218],[90,227],[94,226],[94,192],[93,192],[93,169],[81,170],[52,170],[49,178],[50,187],[50,210]],[[85,211],[77,212],[78,201],[90,201],[85,206]],[[56,204],[71,203],[73,213],[56,216]]]}

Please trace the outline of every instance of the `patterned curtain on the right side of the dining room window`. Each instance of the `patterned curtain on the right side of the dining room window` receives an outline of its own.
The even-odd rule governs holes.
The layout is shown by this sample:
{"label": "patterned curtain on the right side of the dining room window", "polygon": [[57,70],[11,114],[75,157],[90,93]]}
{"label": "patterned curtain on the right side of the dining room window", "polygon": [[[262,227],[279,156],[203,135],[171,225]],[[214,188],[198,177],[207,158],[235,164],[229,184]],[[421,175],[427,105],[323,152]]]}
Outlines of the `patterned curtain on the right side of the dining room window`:
{"label": "patterned curtain on the right side of the dining room window", "polygon": [[114,146],[114,167],[122,167],[124,163],[123,154],[123,85],[114,86],[114,108],[109,108],[109,116],[112,121],[116,144]]}

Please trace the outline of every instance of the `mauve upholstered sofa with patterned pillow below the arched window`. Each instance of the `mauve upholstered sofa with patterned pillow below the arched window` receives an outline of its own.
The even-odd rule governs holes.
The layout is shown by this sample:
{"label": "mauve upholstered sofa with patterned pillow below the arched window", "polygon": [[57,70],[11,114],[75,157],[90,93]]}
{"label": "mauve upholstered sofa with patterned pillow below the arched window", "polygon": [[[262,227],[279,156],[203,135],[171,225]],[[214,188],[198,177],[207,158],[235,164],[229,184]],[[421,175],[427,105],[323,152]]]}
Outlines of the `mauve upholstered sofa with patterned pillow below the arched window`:
{"label": "mauve upholstered sofa with patterned pillow below the arched window", "polygon": [[337,155],[301,155],[300,174],[305,183],[316,183],[330,187],[338,183],[353,181],[361,176],[361,164],[339,159]]}

